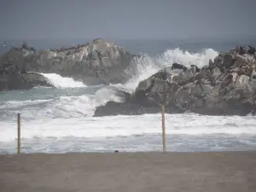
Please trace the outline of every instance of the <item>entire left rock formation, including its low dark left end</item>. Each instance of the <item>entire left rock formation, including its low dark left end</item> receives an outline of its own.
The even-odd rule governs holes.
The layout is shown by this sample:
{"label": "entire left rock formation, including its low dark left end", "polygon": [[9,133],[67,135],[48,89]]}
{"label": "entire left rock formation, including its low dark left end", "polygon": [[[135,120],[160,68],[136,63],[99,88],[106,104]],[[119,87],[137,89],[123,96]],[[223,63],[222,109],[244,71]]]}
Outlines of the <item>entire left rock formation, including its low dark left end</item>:
{"label": "entire left rock formation, including its low dark left end", "polygon": [[[38,73],[58,73],[87,85],[123,83],[125,68],[133,57],[125,49],[101,38],[77,47],[41,51],[24,43],[0,57],[0,91],[49,85]],[[32,72],[33,77],[27,72]],[[27,77],[33,80],[27,83]]]}

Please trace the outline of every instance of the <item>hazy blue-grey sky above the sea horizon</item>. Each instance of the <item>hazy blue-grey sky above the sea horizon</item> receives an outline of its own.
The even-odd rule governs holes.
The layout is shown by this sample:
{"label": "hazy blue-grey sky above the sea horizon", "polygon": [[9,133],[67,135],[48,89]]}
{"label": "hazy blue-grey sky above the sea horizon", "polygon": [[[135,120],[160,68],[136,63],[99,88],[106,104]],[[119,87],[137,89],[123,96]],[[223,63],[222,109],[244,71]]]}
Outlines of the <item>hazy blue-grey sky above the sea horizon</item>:
{"label": "hazy blue-grey sky above the sea horizon", "polygon": [[0,0],[1,38],[254,35],[256,0]]}

